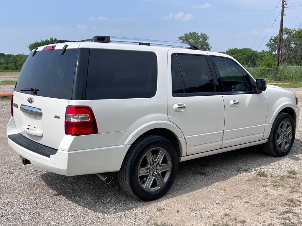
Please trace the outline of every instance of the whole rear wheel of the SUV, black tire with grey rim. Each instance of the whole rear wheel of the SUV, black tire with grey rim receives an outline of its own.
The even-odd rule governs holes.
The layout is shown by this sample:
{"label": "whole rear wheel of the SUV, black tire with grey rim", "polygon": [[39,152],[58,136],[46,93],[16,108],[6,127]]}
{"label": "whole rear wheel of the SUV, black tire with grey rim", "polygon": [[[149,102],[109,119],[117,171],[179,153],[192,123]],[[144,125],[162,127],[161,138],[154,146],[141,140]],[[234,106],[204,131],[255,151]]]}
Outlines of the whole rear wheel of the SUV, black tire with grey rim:
{"label": "whole rear wheel of the SUV, black tire with grey rim", "polygon": [[133,143],[118,172],[118,179],[130,196],[151,201],[162,197],[170,189],[177,166],[177,153],[172,143],[151,135]]}

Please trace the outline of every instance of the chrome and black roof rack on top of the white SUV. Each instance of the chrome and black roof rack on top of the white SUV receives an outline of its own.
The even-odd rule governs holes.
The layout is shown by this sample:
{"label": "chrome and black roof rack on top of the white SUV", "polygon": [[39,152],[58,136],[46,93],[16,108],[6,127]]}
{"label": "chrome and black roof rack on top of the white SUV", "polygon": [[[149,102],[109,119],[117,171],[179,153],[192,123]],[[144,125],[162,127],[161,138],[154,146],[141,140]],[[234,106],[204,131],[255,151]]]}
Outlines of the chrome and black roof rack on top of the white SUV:
{"label": "chrome and black roof rack on top of the white SUV", "polygon": [[[159,45],[159,46],[175,46],[175,47],[183,47],[189,49],[200,50],[197,46],[187,43],[180,43],[180,42],[167,42],[167,41],[158,41],[158,40],[151,40],[151,39],[136,39],[136,38],[125,38],[125,37],[115,37],[115,36],[94,36],[92,39],[85,39],[80,40],[78,42],[131,42],[131,43],[138,43],[139,45],[150,46],[152,45]],[[75,42],[75,41],[68,41],[68,40],[58,40],[56,43],[62,42]]]}

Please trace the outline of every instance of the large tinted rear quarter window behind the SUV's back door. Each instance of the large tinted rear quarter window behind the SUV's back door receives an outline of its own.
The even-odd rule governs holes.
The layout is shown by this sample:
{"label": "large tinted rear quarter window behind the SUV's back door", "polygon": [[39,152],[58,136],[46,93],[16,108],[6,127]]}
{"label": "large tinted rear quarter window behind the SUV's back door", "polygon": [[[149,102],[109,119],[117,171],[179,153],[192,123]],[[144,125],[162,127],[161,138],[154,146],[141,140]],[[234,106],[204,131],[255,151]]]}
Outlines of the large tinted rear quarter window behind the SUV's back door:
{"label": "large tinted rear quarter window behind the SUV's back door", "polygon": [[148,98],[156,94],[153,52],[91,49],[86,99]]}

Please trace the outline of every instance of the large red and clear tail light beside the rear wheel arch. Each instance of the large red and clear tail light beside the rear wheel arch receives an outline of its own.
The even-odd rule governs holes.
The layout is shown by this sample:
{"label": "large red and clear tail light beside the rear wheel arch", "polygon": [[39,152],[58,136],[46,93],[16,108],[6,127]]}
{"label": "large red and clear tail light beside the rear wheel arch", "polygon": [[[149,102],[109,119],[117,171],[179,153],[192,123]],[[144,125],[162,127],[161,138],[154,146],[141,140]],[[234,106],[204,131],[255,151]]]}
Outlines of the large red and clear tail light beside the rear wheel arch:
{"label": "large red and clear tail light beside the rear wheel arch", "polygon": [[84,135],[98,133],[95,116],[88,106],[66,107],[65,114],[65,134]]}

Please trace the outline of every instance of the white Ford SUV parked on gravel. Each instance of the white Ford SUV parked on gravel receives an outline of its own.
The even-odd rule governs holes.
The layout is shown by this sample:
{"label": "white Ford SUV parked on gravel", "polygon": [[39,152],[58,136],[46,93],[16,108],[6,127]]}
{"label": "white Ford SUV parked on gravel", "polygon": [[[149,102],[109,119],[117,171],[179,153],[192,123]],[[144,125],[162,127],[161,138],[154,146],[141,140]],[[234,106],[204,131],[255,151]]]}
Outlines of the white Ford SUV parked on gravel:
{"label": "white Ford SUV parked on gravel", "polygon": [[153,200],[172,186],[178,162],[258,144],[273,156],[291,150],[298,99],[229,55],[146,39],[88,41],[28,56],[7,126],[23,164],[106,183],[104,173],[118,171],[129,195]]}

